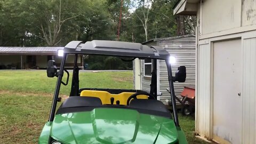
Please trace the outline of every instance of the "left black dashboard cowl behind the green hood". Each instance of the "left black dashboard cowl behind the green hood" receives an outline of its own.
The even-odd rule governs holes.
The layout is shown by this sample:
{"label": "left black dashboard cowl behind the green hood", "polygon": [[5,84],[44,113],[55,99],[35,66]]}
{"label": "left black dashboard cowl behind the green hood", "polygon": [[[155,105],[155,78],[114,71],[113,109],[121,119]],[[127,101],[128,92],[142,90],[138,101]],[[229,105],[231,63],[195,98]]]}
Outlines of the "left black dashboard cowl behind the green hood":
{"label": "left black dashboard cowl behind the green hood", "polygon": [[71,108],[71,107],[97,107],[102,106],[102,102],[96,97],[79,97],[73,96],[66,99],[60,108]]}

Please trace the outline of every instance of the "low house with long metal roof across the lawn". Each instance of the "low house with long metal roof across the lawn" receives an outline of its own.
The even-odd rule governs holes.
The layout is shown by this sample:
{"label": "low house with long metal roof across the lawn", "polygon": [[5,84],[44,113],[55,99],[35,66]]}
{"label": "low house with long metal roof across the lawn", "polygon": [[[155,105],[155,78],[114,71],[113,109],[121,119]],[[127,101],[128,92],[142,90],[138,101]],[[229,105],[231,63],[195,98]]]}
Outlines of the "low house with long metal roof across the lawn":
{"label": "low house with long metal roof across the lawn", "polygon": [[[58,50],[63,47],[0,47],[0,69],[46,69],[48,60],[61,63]],[[70,55],[66,66],[73,67],[75,55]],[[78,58],[78,65],[83,68],[83,57]]]}

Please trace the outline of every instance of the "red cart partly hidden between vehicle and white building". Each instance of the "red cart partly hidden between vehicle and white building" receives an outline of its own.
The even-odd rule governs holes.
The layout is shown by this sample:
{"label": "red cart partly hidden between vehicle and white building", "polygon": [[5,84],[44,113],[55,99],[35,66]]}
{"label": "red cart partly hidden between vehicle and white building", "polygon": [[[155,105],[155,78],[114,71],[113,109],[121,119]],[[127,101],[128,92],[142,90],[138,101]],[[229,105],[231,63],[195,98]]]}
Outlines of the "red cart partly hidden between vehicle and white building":
{"label": "red cart partly hidden between vehicle and white building", "polygon": [[[167,91],[170,93],[170,90],[167,89]],[[182,99],[180,100],[175,96],[175,99],[178,100],[181,105],[181,113],[183,115],[191,115],[195,113],[195,89],[191,87],[184,87],[183,91],[180,93],[180,96]],[[171,104],[171,103],[170,103]]]}

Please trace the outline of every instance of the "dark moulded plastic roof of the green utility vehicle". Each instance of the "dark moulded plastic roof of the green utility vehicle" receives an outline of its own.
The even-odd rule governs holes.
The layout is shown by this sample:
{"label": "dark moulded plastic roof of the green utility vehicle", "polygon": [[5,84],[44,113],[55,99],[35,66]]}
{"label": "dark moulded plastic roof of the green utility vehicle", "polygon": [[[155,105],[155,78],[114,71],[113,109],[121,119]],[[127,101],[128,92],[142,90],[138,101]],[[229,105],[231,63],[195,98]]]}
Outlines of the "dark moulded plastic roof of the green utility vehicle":
{"label": "dark moulded plastic roof of the green utility vehicle", "polygon": [[64,47],[64,53],[100,54],[132,58],[167,59],[169,53],[159,46],[147,46],[140,43],[93,40],[86,43],[72,41]]}

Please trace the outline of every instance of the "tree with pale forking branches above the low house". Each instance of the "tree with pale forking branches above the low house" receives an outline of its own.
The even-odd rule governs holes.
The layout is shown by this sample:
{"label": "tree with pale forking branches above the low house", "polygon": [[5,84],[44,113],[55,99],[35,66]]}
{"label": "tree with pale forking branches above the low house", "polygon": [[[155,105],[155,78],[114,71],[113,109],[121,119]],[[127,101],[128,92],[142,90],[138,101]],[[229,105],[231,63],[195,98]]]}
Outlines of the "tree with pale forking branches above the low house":
{"label": "tree with pale forking branches above the low house", "polygon": [[23,0],[24,17],[33,26],[29,33],[43,39],[47,46],[61,42],[65,23],[79,16],[81,1]]}

